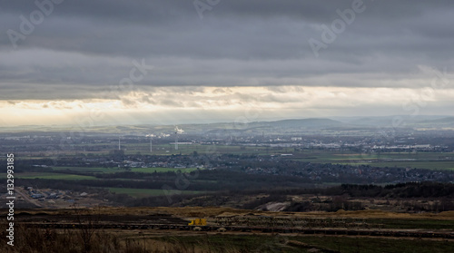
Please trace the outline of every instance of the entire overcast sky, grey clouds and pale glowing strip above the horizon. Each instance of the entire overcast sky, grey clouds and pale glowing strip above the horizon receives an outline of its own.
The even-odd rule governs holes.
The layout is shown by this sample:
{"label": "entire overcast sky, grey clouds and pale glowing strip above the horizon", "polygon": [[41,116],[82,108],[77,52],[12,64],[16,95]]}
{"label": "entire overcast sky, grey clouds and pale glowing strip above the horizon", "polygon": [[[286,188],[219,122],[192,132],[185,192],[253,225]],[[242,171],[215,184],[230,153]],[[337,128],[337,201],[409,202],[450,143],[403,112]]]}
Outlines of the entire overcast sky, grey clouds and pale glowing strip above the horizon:
{"label": "entire overcast sky, grey clouds and pale glowing strip above the horizon", "polygon": [[0,1],[0,125],[454,115],[453,1],[36,2]]}

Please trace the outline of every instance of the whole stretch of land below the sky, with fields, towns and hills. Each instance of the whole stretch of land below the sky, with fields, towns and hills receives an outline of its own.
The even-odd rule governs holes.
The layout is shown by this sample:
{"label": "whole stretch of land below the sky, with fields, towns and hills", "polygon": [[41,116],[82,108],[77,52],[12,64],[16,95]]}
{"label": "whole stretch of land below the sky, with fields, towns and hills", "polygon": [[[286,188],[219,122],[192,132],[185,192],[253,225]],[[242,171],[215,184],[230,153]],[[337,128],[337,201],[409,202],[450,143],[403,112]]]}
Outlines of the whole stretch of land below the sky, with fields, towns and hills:
{"label": "whole stretch of land below the sky, with fields, towns and hills", "polygon": [[365,122],[385,127],[301,119],[2,132],[29,242],[19,250],[61,252],[36,234],[90,252],[450,250],[454,131]]}

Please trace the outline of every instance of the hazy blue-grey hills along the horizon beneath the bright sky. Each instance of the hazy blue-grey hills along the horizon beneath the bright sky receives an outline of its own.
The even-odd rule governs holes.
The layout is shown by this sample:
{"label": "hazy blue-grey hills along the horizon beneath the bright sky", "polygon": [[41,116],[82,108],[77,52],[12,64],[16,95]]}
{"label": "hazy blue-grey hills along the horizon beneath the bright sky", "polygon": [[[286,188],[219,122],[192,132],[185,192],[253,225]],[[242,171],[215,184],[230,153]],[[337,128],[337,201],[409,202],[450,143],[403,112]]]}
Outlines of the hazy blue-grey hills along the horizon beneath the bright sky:
{"label": "hazy blue-grey hills along the horizon beneath the bright sky", "polygon": [[[396,119],[401,124],[395,126]],[[399,122],[399,121],[398,121]],[[299,131],[315,132],[318,130],[329,131],[375,131],[377,128],[417,128],[417,129],[454,129],[453,116],[441,115],[395,115],[380,117],[333,117],[328,118],[307,118],[307,119],[288,119],[272,122],[212,122],[212,123],[192,123],[177,124],[183,129],[184,134],[203,134],[222,133],[231,134],[262,134],[262,132],[279,132],[279,133],[296,133]],[[105,134],[173,134],[175,124],[168,125],[104,125],[93,126],[88,131],[105,133]],[[23,127],[0,127],[0,132],[44,132],[44,131],[76,131],[80,127],[62,125],[62,126],[23,126]]]}

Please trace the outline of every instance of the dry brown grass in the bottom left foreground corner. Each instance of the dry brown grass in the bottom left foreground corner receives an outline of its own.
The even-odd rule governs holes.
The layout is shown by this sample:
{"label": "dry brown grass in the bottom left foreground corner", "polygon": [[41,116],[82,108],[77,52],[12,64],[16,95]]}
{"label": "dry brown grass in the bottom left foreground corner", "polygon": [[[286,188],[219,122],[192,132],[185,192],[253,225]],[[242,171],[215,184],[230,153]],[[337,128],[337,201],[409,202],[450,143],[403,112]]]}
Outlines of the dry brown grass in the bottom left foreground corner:
{"label": "dry brown grass in the bottom left foreground corner", "polygon": [[[1,224],[5,227],[5,224]],[[87,242],[84,242],[81,229],[26,229],[15,228],[15,245],[6,244],[5,232],[0,238],[0,252],[8,253],[208,253],[210,245],[199,246],[175,240],[166,242],[147,238],[141,232],[135,235],[114,234],[96,230]],[[241,248],[225,248],[223,252],[242,252]]]}

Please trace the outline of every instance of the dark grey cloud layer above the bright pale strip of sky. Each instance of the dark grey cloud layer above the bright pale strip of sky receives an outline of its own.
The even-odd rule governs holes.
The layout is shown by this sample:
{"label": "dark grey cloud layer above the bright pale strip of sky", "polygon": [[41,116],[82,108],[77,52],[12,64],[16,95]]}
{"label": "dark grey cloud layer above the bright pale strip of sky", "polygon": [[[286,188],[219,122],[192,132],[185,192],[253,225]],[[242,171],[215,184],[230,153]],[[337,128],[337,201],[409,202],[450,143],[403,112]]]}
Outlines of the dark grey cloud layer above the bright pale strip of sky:
{"label": "dark grey cloud layer above the bright pale strip of sky", "polygon": [[[193,2],[65,0],[14,49],[7,31],[20,33],[20,16],[39,9],[0,1],[0,99],[97,97],[127,77],[134,59],[156,67],[136,87],[406,87],[419,84],[397,81],[420,78],[419,65],[450,71],[454,63],[453,1],[364,0],[364,12],[318,58],[308,40],[321,41],[321,24],[354,0],[221,0],[202,19]],[[28,85],[44,89],[27,93]]]}

